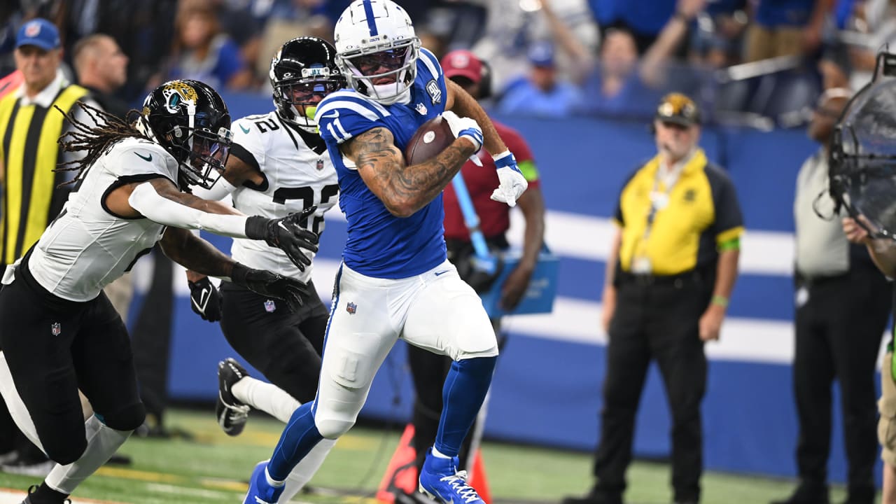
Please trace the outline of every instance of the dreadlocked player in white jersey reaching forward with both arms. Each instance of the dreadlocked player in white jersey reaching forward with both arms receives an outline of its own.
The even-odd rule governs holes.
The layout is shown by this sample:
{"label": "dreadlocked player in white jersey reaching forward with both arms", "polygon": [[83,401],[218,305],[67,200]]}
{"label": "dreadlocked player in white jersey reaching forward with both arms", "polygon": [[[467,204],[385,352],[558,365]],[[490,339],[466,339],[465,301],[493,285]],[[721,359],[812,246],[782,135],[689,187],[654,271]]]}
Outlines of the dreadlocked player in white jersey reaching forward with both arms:
{"label": "dreadlocked player in white jersey reaching forward with both arms", "polygon": [[[298,267],[310,264],[317,237],[283,219],[250,216],[190,195],[211,187],[227,161],[230,117],[204,83],[172,81],[152,91],[126,123],[92,111],[97,126],[74,120],[60,143],[87,155],[73,161],[71,196],[62,213],[21,259],[6,268],[0,290],[0,393],[20,429],[56,466],[23,504],[60,504],[139,427],[137,392],[125,323],[102,289],[159,242],[181,265],[228,277],[298,307],[306,286],[242,265],[189,230],[263,239]],[[94,414],[84,421],[78,389]]]}

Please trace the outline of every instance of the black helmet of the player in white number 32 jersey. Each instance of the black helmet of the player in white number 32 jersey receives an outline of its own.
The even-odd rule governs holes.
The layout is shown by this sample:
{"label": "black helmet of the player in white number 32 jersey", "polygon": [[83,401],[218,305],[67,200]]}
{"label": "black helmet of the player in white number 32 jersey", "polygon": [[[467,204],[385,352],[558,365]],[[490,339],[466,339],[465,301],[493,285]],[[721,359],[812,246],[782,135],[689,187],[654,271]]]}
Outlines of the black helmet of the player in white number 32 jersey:
{"label": "black helmet of the player in white number 32 jersey", "polygon": [[316,133],[314,111],[323,97],[346,87],[335,61],[336,48],[316,37],[283,44],[271,59],[274,106],[284,121]]}

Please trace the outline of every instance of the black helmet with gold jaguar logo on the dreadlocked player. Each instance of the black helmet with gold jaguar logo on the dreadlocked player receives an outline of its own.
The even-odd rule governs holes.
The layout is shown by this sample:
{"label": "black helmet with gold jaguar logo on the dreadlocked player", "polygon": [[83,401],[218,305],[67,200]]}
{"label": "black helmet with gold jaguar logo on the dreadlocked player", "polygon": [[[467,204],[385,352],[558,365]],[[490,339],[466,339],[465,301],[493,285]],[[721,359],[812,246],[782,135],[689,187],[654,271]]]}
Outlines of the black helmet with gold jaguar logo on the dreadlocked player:
{"label": "black helmet with gold jaguar logo on the dreadlocked player", "polygon": [[233,138],[230,114],[206,83],[161,84],[143,100],[137,127],[177,159],[182,186],[211,188],[224,170]]}

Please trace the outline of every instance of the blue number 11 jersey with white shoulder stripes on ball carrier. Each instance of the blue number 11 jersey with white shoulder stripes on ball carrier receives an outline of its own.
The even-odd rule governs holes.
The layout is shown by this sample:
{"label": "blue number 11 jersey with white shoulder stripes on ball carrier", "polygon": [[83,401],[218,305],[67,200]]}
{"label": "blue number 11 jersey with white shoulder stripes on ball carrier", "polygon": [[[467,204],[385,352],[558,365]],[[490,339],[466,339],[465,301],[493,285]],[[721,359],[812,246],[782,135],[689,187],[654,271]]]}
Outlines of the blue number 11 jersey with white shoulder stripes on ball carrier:
{"label": "blue number 11 jersey with white shoulder stripes on ball carrier", "polygon": [[433,53],[420,49],[417,77],[409,103],[382,105],[354,90],[327,96],[314,116],[339,175],[340,209],[349,222],[342,260],[360,274],[407,278],[444,262],[442,195],[406,218],[399,218],[367,188],[354,166],[347,167],[339,144],[375,127],[385,127],[404,152],[418,127],[444,111],[442,67]]}

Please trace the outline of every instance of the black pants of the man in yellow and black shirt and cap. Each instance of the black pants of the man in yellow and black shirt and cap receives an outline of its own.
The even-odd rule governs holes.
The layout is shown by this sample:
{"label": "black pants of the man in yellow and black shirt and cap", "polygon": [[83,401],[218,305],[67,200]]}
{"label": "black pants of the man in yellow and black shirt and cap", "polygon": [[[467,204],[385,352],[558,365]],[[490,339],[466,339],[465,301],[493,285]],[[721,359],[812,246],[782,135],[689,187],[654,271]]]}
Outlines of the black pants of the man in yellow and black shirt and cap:
{"label": "black pants of the man in yellow and black shirt and cap", "polygon": [[656,360],[672,416],[672,486],[675,500],[699,500],[702,474],[700,404],[706,390],[706,355],[698,323],[710,288],[699,277],[674,283],[622,282],[610,323],[607,376],[595,452],[595,492],[621,502],[632,461],[634,418],[651,360]]}

